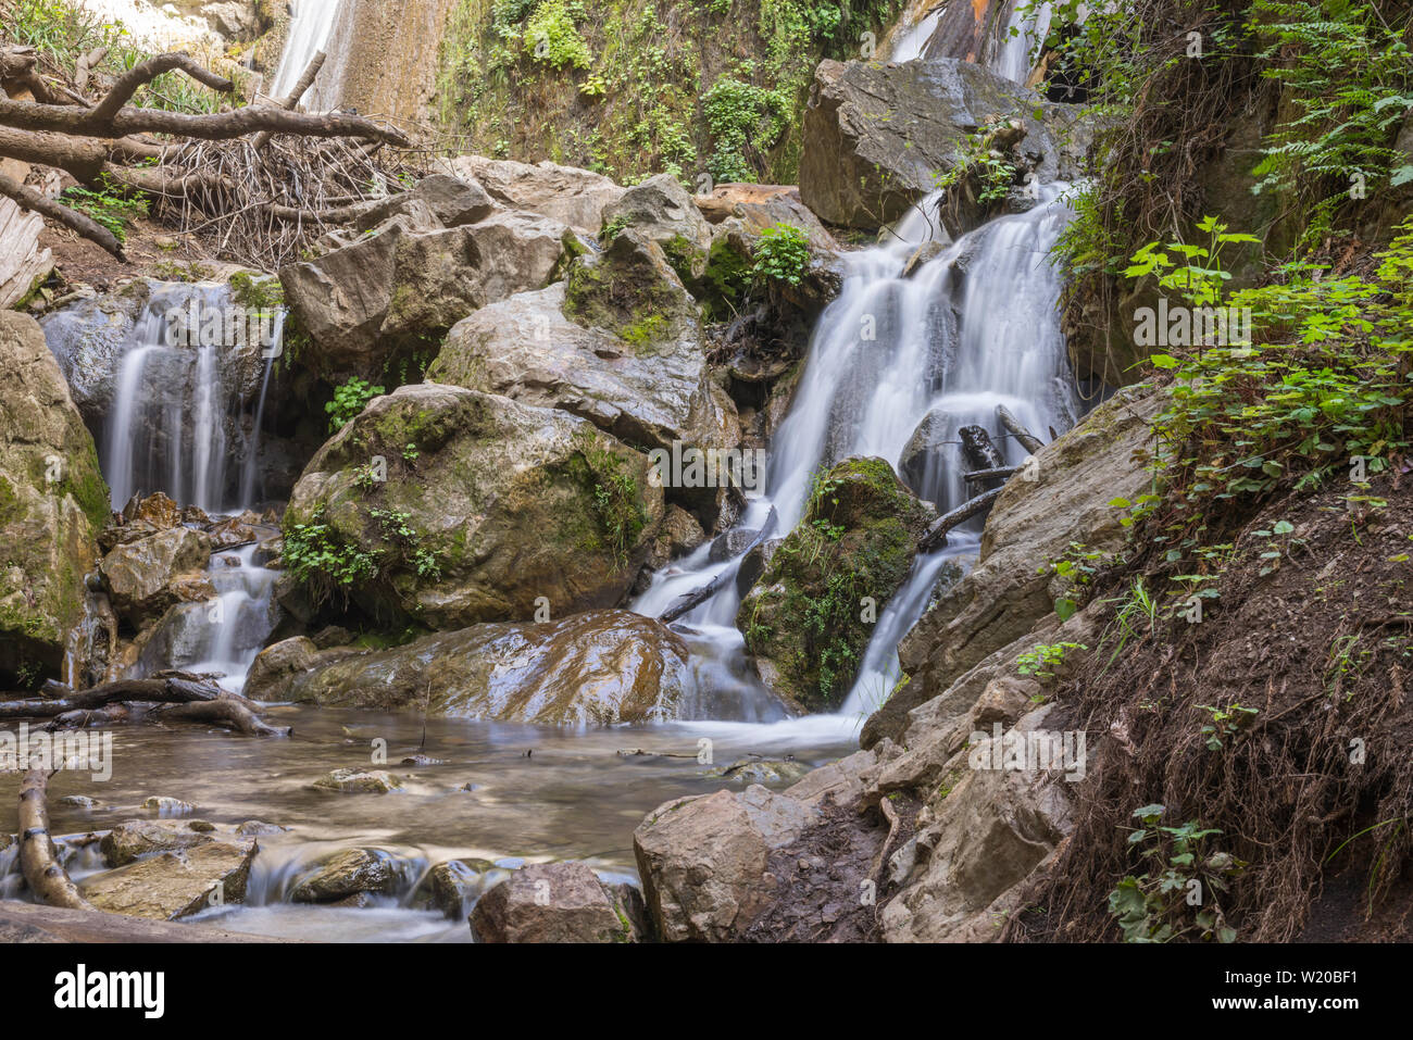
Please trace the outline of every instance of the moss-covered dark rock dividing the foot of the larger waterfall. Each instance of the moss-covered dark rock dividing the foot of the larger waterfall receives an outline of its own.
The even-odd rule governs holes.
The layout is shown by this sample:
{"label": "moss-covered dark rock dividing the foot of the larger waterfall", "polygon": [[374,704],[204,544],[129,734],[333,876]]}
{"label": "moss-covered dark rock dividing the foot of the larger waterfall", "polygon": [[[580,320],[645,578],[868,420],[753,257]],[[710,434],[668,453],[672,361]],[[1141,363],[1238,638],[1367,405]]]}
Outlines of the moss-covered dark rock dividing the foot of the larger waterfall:
{"label": "moss-covered dark rock dividing the foot of the larger waterfall", "polygon": [[883,459],[824,475],[736,613],[766,685],[798,711],[839,707],[873,633],[866,598],[882,612],[930,519]]}

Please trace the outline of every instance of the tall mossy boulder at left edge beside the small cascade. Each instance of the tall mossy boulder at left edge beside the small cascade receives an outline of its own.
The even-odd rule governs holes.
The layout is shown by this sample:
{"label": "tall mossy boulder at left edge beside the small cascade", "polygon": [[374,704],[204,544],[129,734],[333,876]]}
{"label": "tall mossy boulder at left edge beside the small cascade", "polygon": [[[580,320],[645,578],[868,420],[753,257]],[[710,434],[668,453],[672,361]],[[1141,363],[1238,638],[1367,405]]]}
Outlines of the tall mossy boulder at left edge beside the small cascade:
{"label": "tall mossy boulder at left edge beside the small cascade", "polygon": [[93,438],[32,318],[0,311],[0,685],[57,675],[107,520]]}

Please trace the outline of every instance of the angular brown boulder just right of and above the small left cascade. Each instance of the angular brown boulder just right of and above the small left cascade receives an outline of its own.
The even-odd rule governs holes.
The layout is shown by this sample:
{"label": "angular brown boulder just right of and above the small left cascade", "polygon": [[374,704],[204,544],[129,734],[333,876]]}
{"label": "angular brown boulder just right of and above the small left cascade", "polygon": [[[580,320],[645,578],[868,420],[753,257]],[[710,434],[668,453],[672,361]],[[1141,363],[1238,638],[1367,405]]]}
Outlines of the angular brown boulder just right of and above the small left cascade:
{"label": "angular brown boulder just right of and above the small left cascade", "polygon": [[564,253],[565,226],[517,211],[454,226],[438,216],[475,216],[485,211],[476,199],[469,187],[458,195],[445,185],[400,196],[384,203],[391,216],[367,233],[285,267],[285,300],[312,341],[301,363],[329,382],[376,379],[478,307],[545,285]]}

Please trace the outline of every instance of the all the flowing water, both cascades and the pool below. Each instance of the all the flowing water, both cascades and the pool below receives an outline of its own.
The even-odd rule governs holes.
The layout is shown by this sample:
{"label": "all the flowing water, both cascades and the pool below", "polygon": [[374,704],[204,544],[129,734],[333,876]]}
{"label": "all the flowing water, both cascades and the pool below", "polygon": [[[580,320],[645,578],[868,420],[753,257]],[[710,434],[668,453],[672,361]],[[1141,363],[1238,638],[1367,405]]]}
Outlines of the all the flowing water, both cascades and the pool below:
{"label": "all the flowing water, both cascades and the pool below", "polygon": [[[952,243],[937,230],[935,199],[927,199],[882,244],[845,254],[842,291],[818,322],[794,404],[771,445],[766,489],[747,500],[745,528],[773,524],[774,537],[787,534],[821,466],[861,454],[897,465],[928,415],[942,444],[916,482],[940,510],[971,493],[954,435],[961,425],[986,428],[1010,463],[1020,463],[1024,451],[1005,435],[996,406],[1041,438],[1072,425],[1078,403],[1057,322],[1060,284],[1047,259],[1068,215],[1061,189],[1051,185],[1030,212],[999,218]],[[935,256],[904,276],[927,243]],[[213,291],[158,287],[123,348],[99,445],[114,504],[138,490],[167,490],[181,504],[225,512],[254,503],[259,421],[232,422],[232,414],[260,414],[268,362],[252,366],[247,358],[236,367],[229,350],[172,348],[158,335],[170,308]],[[232,432],[242,430],[247,432]],[[716,595],[678,623],[698,677],[685,711],[692,721],[543,729],[271,705],[273,722],[294,726],[291,739],[203,728],[119,729],[110,781],[93,784],[82,773],[55,777],[54,828],[81,834],[141,817],[138,805],[148,796],[194,803],[196,815],[216,824],[280,824],[291,829],[260,839],[247,903],[203,917],[270,935],[465,941],[465,921],[422,909],[430,866],[472,862],[482,886],[541,859],[582,859],[608,879],[632,878],[632,832],[646,812],[671,797],[742,786],[709,776],[712,766],[692,757],[620,750],[682,755],[706,738],[718,767],[747,755],[815,766],[853,750],[862,716],[896,681],[899,640],[926,610],[940,575],[955,574],[975,554],[979,530],[979,519],[969,521],[945,548],[918,557],[883,609],[858,681],[834,715],[784,718],[752,678],[733,623],[740,560],[712,562],[704,545],[658,574],[633,605],[656,616],[684,592],[725,578]],[[215,670],[227,674],[227,687],[240,687],[271,632],[276,574],[257,567],[254,547],[244,547],[215,554],[211,577],[218,601],[177,612],[138,670]],[[387,769],[407,777],[406,791],[339,796],[311,786],[332,769],[377,766],[374,739],[387,742]],[[398,766],[414,752],[442,762]],[[13,804],[16,787],[17,779],[0,777],[0,798]],[[92,811],[58,804],[69,793],[100,804]],[[319,856],[349,846],[391,856],[401,878],[397,890],[366,909],[291,902]],[[102,869],[93,845],[71,841],[65,848],[76,878]],[[13,851],[0,852],[0,896],[20,894],[18,887]]]}

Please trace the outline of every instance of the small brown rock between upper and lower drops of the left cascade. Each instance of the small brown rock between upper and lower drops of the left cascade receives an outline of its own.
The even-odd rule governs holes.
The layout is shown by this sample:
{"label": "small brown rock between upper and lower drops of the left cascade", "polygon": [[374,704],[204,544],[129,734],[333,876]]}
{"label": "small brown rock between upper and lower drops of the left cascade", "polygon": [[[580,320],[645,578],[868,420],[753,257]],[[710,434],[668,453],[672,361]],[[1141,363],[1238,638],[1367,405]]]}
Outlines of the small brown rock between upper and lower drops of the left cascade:
{"label": "small brown rock between upper and lower drops of the left cascade", "polygon": [[117,615],[143,627],[174,603],[216,595],[205,574],[209,560],[206,534],[171,527],[114,547],[99,564],[99,574]]}

